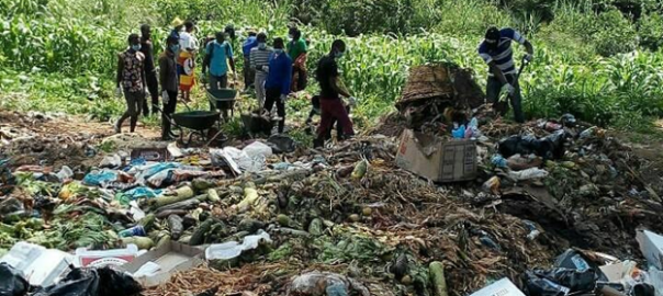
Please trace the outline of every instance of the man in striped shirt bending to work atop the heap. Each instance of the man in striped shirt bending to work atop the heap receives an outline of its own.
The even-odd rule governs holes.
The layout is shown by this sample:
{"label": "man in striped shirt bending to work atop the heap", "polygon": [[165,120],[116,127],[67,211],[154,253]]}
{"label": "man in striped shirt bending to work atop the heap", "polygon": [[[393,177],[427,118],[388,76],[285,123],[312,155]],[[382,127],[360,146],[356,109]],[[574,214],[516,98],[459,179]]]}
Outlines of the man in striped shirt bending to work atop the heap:
{"label": "man in striped shirt bending to work atop the heap", "polygon": [[531,61],[533,57],[533,47],[520,33],[510,27],[498,30],[490,27],[486,31],[484,41],[479,45],[479,55],[488,64],[488,81],[486,86],[486,96],[493,106],[502,115],[508,111],[508,103],[499,102],[499,92],[502,90],[508,92],[512,105],[514,107],[514,116],[516,122],[525,122],[522,114],[522,98],[520,96],[520,86],[518,84],[518,71],[514,62],[514,53],[512,42],[517,42],[525,46],[527,55],[526,61]]}

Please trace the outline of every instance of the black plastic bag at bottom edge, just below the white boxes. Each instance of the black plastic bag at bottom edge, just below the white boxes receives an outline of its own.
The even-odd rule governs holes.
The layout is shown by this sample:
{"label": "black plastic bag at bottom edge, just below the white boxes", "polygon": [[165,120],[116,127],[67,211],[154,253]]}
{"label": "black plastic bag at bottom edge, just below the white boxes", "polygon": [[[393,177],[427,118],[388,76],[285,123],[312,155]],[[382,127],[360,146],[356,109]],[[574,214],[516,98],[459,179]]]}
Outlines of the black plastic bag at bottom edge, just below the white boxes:
{"label": "black plastic bag at bottom edge, just below the white boxes", "polygon": [[132,296],[143,288],[128,274],[109,266],[72,269],[56,285],[42,288],[31,296]]}

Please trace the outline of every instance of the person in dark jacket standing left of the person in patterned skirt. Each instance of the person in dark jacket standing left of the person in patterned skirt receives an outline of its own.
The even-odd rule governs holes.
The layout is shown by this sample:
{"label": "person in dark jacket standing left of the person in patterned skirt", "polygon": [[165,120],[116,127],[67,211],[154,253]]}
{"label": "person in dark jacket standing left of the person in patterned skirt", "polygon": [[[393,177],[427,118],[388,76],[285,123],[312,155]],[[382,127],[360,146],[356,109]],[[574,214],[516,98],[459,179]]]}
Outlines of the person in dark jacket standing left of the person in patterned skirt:
{"label": "person in dark jacket standing left of the person in patterned skirt", "polygon": [[161,99],[164,100],[164,113],[161,114],[161,139],[172,139],[169,116],[175,113],[178,93],[178,65],[176,53],[180,45],[176,36],[169,36],[166,42],[166,50],[159,56],[159,83],[161,84]]}

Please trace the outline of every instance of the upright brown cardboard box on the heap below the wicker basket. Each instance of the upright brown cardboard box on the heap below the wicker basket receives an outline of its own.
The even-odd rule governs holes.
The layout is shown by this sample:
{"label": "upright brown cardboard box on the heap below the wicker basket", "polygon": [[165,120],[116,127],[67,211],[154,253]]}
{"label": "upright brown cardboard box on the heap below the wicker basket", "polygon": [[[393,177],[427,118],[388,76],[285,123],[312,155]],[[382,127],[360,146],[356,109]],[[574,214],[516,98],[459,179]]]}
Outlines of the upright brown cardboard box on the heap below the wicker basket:
{"label": "upright brown cardboard box on the heap below the wicker basket", "polygon": [[434,182],[457,182],[476,178],[476,143],[449,139],[405,129],[396,164]]}

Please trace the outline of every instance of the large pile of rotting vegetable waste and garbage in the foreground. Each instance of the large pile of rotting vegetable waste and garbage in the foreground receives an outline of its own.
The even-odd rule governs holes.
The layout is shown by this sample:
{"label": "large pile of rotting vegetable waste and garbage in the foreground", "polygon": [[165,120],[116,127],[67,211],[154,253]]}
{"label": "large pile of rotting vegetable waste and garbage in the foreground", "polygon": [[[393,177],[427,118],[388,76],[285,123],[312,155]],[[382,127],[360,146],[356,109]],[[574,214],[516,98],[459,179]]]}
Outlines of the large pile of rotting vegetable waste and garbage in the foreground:
{"label": "large pile of rotting vegetable waste and garbage in the foreground", "polygon": [[515,125],[468,98],[324,150],[124,134],[45,164],[5,138],[0,294],[661,296],[645,161],[571,115]]}

